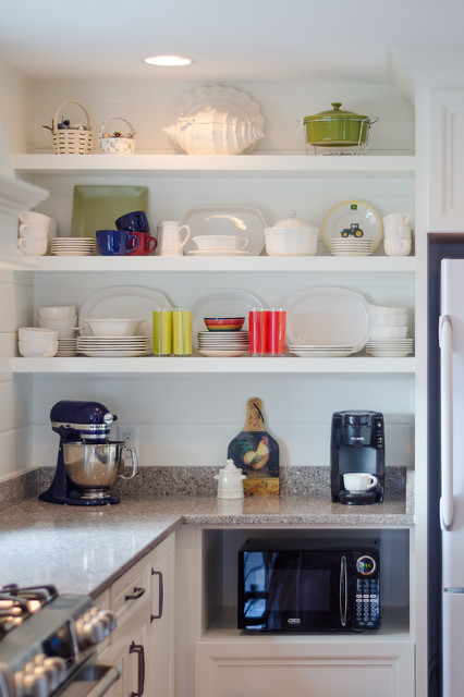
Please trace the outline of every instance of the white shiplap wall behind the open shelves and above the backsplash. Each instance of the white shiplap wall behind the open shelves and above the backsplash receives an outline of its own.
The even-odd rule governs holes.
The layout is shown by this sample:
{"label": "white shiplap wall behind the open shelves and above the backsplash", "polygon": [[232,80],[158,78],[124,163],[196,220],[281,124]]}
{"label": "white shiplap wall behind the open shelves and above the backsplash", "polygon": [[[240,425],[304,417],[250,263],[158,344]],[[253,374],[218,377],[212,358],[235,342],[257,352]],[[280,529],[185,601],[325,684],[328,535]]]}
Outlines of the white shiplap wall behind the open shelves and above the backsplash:
{"label": "white shiplap wall behind the open shelves and above the backsplash", "polygon": [[[378,115],[379,122],[371,130],[369,151],[377,154],[414,152],[414,114],[389,85],[283,85],[243,84],[234,85],[255,99],[266,118],[266,137],[258,144],[258,151],[304,151],[304,115],[330,108],[331,101],[342,101],[343,108]],[[30,83],[5,65],[0,65],[0,118],[4,123],[11,152],[50,151],[50,133],[42,129],[50,124],[57,107],[66,99],[77,99],[89,109],[94,130],[98,131],[108,117],[120,114],[129,119],[137,130],[137,151],[169,151],[170,144],[162,127],[170,121],[176,100],[188,89],[199,87],[187,83],[85,83],[68,81],[42,81]],[[66,111],[68,113],[68,111]],[[82,120],[78,110],[75,118]],[[73,118],[73,114],[71,114]],[[70,232],[72,185],[65,178],[58,184],[60,196],[50,197],[38,207],[42,212],[60,220],[61,234]],[[51,183],[51,182],[50,182]],[[82,182],[84,183],[84,182]],[[85,183],[105,183],[101,180]],[[124,183],[121,181],[121,183]],[[132,182],[144,183],[144,182]],[[53,182],[57,185],[57,181]],[[256,206],[262,209],[272,224],[288,209],[295,208],[302,217],[309,213],[316,218],[339,200],[369,197],[369,182],[362,192],[353,183],[333,182],[331,191],[320,191],[314,184],[305,191],[300,182],[292,189],[289,182],[273,180],[269,186],[279,191],[249,188],[248,183],[237,182],[234,193],[229,193],[220,182],[211,181],[208,195],[196,189],[195,181],[184,182],[179,191],[157,183],[156,195],[150,194],[151,220],[178,217],[192,206],[231,203]],[[40,181],[47,188],[47,180]],[[202,187],[205,181],[202,182]],[[375,185],[374,185],[375,186]],[[393,199],[388,194],[373,189],[389,212],[393,204],[400,207],[412,200],[414,184],[402,191],[392,184]],[[374,193],[376,191],[376,193]],[[203,188],[203,192],[205,189]],[[342,193],[343,192],[343,193]],[[203,196],[203,198],[202,198]],[[277,198],[280,196],[280,199]],[[341,197],[343,196],[343,197]],[[240,198],[240,200],[239,200]],[[279,200],[279,204],[276,201]],[[403,206],[401,206],[403,207]],[[2,221],[2,241],[14,244],[15,220]],[[113,285],[106,279],[64,278],[65,274],[38,274],[36,279],[22,273],[21,279],[11,273],[0,277],[0,290],[5,297],[14,297],[14,310],[0,309],[0,340],[5,342],[3,351],[14,351],[12,329],[21,323],[34,321],[34,307],[52,303],[57,296],[61,303],[81,302],[95,288]],[[25,278],[26,277],[26,278]],[[178,282],[179,281],[179,282]],[[319,279],[320,281],[320,279]],[[124,278],[124,283],[146,284],[159,288],[157,280]],[[187,284],[195,284],[195,293],[210,289],[211,279],[171,279],[164,281],[167,294],[175,303],[184,303]],[[230,286],[240,284],[240,279],[216,280]],[[292,290],[293,279],[281,279],[279,288],[256,280],[252,288],[268,303],[282,303]],[[301,280],[303,282],[303,280]],[[332,284],[342,281],[330,279]],[[345,279],[345,282],[346,281]],[[353,279],[352,281],[353,282]],[[260,288],[260,283],[264,285]],[[365,280],[364,289],[375,297],[374,282]],[[171,284],[171,285],[169,285]],[[310,283],[309,283],[310,284]],[[306,283],[308,285],[308,283]],[[160,289],[161,290],[161,289]],[[252,289],[249,289],[252,290]],[[386,288],[379,302],[395,301],[396,289]],[[278,294],[279,297],[277,296]],[[413,288],[404,288],[400,296],[406,304],[414,304]],[[7,305],[9,305],[7,303]],[[3,354],[3,355],[5,355]],[[373,408],[383,411],[393,429],[389,438],[388,463],[408,464],[413,461],[414,395],[411,380],[403,376],[387,376],[371,380],[368,376],[223,376],[208,380],[202,376],[183,376],[182,379],[166,377],[107,377],[83,376],[21,376],[14,379],[2,376],[0,390],[4,414],[0,414],[0,448],[5,444],[8,457],[0,462],[0,477],[21,472],[34,464],[54,464],[57,437],[49,425],[50,406],[59,399],[93,399],[107,404],[122,423],[139,425],[139,454],[144,465],[222,465],[227,443],[240,430],[245,415],[245,402],[249,396],[260,396],[265,406],[267,425],[281,445],[283,464],[327,464],[329,456],[329,429],[331,413],[339,408]],[[4,427],[3,427],[4,424]],[[33,427],[30,425],[34,425]],[[393,432],[392,431],[392,432]]]}

